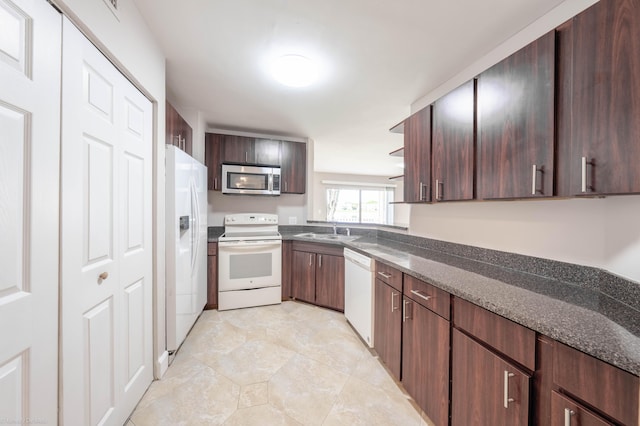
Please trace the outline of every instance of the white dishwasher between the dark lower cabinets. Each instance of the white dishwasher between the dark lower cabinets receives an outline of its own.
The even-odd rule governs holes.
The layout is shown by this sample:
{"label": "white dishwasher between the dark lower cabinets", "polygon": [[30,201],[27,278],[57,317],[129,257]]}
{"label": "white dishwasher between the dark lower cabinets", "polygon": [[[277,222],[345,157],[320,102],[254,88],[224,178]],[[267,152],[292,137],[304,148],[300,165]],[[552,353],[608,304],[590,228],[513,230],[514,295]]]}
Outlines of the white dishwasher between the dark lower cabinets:
{"label": "white dishwasher between the dark lower cabinets", "polygon": [[344,316],[373,347],[374,275],[371,258],[344,249]]}

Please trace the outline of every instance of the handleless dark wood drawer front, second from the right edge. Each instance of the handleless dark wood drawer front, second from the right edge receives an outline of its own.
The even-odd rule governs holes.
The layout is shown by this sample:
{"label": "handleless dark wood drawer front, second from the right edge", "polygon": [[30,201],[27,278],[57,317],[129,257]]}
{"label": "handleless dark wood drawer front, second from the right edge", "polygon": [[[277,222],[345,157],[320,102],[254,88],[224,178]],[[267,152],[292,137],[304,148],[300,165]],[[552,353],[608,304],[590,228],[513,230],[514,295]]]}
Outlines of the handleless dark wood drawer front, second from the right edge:
{"label": "handleless dark wood drawer front, second from the right edge", "polygon": [[453,301],[453,323],[529,370],[535,370],[533,330],[457,297]]}

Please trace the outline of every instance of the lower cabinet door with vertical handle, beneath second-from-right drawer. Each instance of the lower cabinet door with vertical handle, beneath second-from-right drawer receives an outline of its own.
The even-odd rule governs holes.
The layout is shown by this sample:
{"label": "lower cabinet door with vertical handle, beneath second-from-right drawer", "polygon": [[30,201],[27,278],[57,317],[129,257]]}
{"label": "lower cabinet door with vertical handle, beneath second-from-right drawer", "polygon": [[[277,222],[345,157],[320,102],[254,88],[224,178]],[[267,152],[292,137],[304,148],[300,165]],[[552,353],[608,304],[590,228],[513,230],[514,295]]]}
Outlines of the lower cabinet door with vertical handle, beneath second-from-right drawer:
{"label": "lower cabinet door with vertical handle, beneath second-from-right drawer", "polygon": [[529,424],[530,376],[454,329],[451,425]]}

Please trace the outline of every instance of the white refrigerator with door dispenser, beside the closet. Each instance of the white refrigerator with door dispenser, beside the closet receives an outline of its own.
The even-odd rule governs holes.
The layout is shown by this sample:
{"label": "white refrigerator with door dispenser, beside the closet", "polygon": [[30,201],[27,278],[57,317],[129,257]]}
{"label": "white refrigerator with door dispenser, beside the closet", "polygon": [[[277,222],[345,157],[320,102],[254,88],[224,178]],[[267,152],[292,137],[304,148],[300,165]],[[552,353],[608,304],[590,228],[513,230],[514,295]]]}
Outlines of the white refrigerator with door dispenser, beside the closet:
{"label": "white refrigerator with door dispenser, beside the closet", "polygon": [[180,347],[207,301],[207,167],[166,146],[167,350]]}

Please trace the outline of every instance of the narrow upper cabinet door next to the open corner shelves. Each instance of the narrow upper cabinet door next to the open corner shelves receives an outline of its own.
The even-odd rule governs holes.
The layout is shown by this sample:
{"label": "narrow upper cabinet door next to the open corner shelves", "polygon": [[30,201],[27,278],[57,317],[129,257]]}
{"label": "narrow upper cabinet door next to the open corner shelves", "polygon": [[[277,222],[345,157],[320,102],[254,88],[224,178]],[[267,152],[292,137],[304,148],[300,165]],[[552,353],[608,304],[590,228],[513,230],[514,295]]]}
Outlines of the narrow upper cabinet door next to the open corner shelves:
{"label": "narrow upper cabinet door next to the open corner shelves", "polygon": [[431,200],[431,106],[404,123],[404,201]]}

